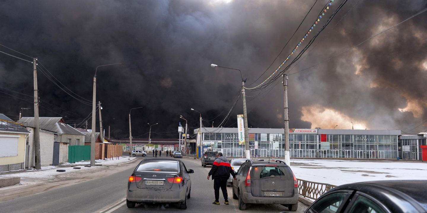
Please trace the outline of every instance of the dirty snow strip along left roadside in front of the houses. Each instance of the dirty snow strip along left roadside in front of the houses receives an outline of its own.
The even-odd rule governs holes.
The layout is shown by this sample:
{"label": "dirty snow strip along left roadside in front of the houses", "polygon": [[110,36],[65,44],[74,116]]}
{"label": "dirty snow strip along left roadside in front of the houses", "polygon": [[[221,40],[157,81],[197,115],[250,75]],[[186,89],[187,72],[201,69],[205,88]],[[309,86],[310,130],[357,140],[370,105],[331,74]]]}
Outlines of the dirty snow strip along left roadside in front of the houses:
{"label": "dirty snow strip along left roadside in front of the houses", "polygon": [[[131,157],[130,160],[128,160],[129,157],[120,157],[118,160],[100,160],[99,163],[102,163],[102,165],[114,165],[114,164],[120,164],[127,161],[131,161],[135,159],[135,157]],[[88,163],[90,162],[78,162],[77,164],[82,163]],[[98,163],[98,161],[97,161]],[[21,178],[53,178],[56,175],[64,174],[64,173],[73,173],[78,172],[82,170],[92,170],[94,168],[100,168],[100,166],[95,167],[84,167],[84,166],[76,166],[80,167],[80,169],[73,169],[73,167],[55,167],[55,166],[47,166],[47,167],[41,167],[41,170],[26,170],[25,172],[20,173],[12,173],[12,174],[4,174],[0,175],[0,177],[21,177]],[[56,170],[65,170],[65,172],[57,172]]]}

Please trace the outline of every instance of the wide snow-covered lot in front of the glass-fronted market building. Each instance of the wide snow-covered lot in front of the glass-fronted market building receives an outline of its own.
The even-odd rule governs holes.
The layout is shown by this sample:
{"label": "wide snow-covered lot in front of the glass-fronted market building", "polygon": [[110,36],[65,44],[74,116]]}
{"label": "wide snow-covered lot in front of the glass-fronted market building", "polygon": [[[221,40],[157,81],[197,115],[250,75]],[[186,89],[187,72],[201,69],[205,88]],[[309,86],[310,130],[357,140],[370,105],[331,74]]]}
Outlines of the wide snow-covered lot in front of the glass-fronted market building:
{"label": "wide snow-covered lot in front of the glass-fronted market building", "polygon": [[427,180],[427,164],[402,161],[291,159],[296,178],[342,185],[377,180]]}

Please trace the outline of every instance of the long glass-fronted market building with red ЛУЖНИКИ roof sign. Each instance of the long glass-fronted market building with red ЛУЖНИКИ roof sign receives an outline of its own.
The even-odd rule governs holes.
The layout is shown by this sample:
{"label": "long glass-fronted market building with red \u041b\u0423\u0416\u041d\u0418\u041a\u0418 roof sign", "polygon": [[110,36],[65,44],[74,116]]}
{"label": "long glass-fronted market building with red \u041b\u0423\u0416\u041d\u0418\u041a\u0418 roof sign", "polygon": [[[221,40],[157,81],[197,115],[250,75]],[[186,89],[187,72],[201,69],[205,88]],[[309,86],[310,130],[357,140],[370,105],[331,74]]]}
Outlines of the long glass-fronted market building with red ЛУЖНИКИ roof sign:
{"label": "long glass-fronted market building with red \u041b\u0423\u0416\u041d\u0418\u041a\u0418 roof sign", "polygon": [[[230,157],[244,155],[237,128],[202,128],[201,133],[204,149]],[[290,154],[291,158],[396,159],[399,135],[401,130],[290,129]],[[255,157],[284,157],[284,129],[250,128],[249,149]]]}

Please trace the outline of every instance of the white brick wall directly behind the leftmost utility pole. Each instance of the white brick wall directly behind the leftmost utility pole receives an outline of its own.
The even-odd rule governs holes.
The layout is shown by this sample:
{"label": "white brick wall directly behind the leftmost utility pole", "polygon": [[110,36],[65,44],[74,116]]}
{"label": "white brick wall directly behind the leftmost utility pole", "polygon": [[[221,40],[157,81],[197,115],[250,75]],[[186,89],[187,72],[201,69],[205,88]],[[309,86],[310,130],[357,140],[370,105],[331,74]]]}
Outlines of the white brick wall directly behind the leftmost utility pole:
{"label": "white brick wall directly behind the leftmost utility pole", "polygon": [[[35,167],[34,162],[34,128],[27,127],[30,132],[28,137],[29,160],[28,167]],[[53,159],[53,141],[55,134],[51,132],[40,131],[40,164],[42,167],[52,165]]]}

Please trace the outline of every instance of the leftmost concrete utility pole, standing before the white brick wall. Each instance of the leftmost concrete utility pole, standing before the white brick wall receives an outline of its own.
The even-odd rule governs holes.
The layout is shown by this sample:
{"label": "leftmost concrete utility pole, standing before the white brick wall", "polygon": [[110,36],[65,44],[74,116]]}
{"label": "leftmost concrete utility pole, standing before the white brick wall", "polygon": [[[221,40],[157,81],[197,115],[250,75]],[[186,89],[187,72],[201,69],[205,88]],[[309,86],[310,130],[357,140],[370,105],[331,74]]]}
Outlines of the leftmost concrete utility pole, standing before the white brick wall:
{"label": "leftmost concrete utility pole, standing before the white brick wall", "polygon": [[34,76],[34,156],[35,169],[41,169],[40,165],[40,127],[38,123],[38,88],[37,88],[37,58],[32,59]]}

